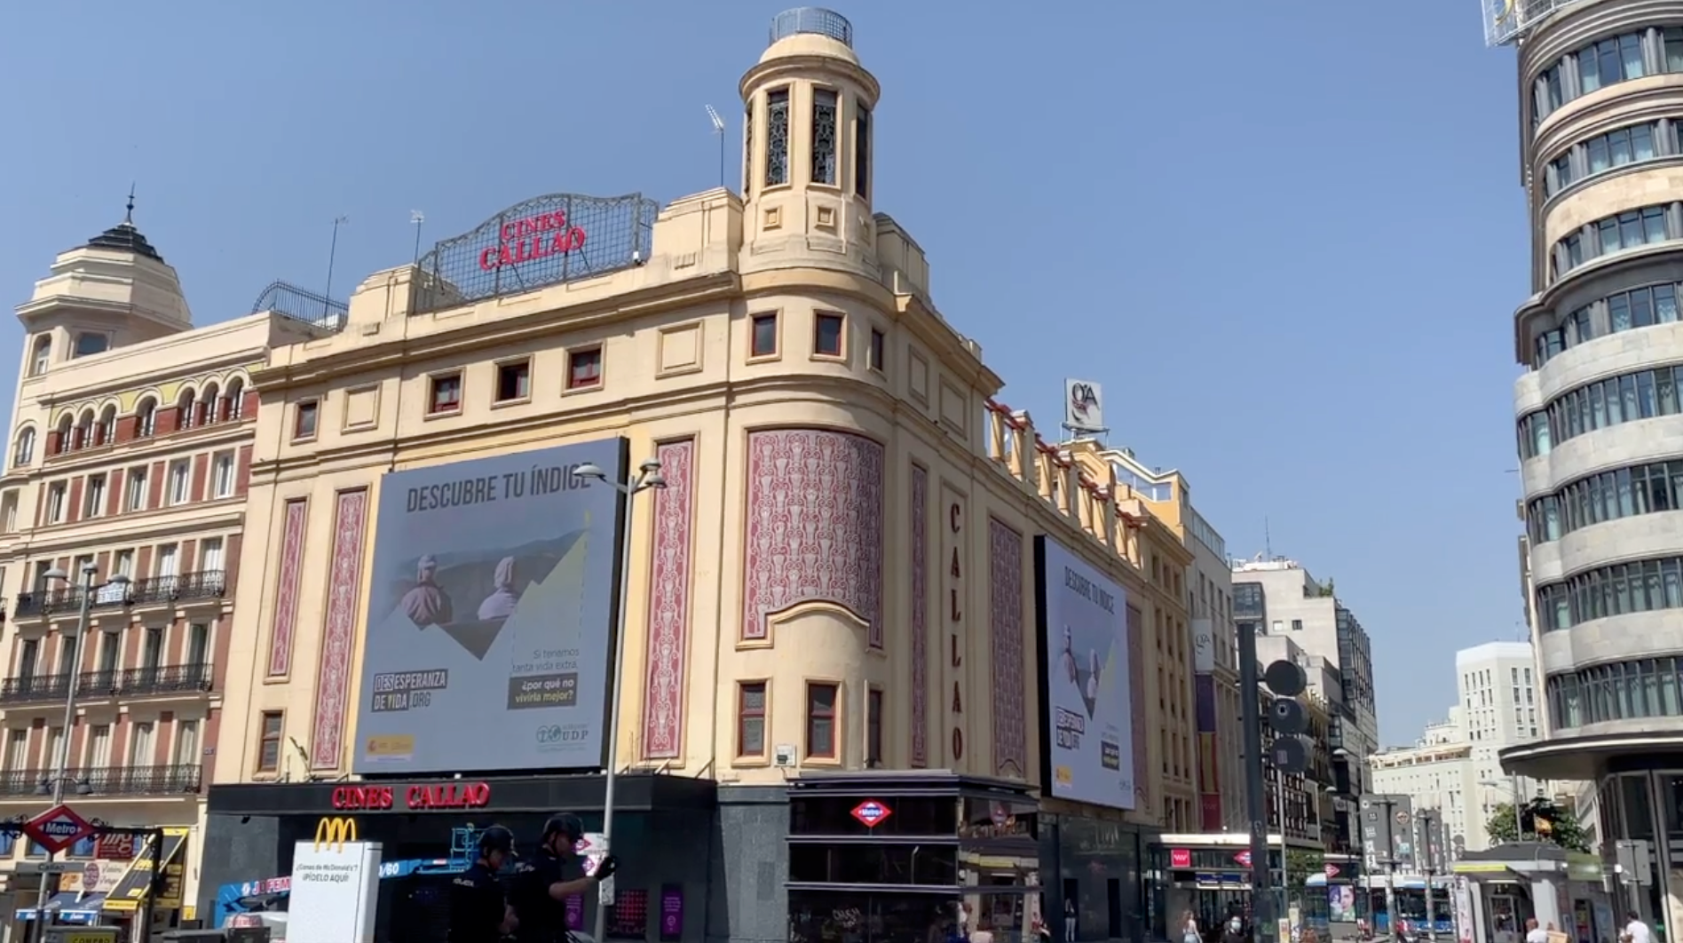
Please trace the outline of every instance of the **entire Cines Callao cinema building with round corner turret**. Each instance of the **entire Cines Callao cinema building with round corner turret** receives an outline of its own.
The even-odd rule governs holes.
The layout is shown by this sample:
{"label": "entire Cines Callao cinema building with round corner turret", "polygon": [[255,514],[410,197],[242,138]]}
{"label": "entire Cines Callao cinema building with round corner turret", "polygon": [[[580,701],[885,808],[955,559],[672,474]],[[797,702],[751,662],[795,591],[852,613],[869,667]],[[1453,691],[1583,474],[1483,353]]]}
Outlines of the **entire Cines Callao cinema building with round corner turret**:
{"label": "entire Cines Callao cinema building with round corner turret", "polygon": [[594,827],[606,763],[616,936],[1018,935],[1042,894],[1144,933],[1197,808],[1190,552],[995,399],[875,205],[880,91],[845,19],[779,15],[742,195],[491,210],[251,370],[200,903],[323,817],[389,857]]}

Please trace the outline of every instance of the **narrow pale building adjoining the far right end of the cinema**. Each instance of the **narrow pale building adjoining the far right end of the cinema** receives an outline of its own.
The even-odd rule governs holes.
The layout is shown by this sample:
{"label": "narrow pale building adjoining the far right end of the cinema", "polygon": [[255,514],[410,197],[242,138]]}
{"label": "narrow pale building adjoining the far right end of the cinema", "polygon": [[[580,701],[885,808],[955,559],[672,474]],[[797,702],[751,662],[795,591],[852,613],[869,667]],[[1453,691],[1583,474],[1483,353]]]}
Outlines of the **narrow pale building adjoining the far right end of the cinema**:
{"label": "narrow pale building adjoining the far right end of the cinema", "polygon": [[1198,514],[1185,475],[1146,468],[1128,448],[1101,455],[1111,465],[1118,488],[1139,498],[1192,551],[1187,608],[1192,613],[1192,702],[1198,726],[1198,817],[1176,830],[1244,832],[1249,818],[1240,761],[1239,640],[1234,635],[1227,541]]}

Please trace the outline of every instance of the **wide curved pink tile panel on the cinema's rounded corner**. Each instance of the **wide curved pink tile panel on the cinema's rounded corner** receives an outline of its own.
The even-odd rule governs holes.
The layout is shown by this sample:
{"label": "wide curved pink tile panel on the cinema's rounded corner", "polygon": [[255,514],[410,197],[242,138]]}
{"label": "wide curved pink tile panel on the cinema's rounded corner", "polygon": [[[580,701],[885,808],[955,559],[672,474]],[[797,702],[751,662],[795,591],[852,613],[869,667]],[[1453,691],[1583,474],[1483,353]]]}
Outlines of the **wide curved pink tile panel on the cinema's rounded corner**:
{"label": "wide curved pink tile panel on the cinema's rounded corner", "polygon": [[766,638],[771,613],[823,599],[882,648],[882,445],[865,436],[749,434],[742,638]]}

